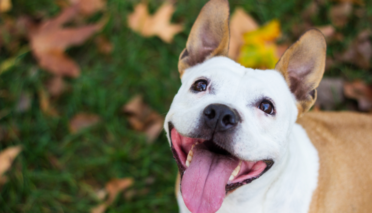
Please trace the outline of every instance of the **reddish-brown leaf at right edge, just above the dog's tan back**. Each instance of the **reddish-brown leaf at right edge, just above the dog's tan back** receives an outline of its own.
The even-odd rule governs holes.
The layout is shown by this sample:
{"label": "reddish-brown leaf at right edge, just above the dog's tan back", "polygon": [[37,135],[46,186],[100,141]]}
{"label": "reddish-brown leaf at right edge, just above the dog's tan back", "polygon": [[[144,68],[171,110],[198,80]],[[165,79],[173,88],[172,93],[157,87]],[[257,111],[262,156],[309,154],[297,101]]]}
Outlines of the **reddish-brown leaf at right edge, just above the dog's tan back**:
{"label": "reddish-brown leaf at right edge, just above the dog's tan back", "polygon": [[345,97],[354,99],[358,102],[360,111],[370,111],[372,109],[372,88],[361,80],[345,83],[343,86]]}

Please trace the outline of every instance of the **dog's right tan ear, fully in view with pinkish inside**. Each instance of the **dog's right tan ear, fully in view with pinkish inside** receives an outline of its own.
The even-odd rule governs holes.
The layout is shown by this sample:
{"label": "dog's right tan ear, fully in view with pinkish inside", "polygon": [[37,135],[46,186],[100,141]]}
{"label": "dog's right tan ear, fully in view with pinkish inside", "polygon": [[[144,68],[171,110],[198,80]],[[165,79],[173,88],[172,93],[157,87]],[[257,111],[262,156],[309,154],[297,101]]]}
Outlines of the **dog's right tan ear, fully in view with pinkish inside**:
{"label": "dog's right tan ear, fully in view with pinkish inside", "polygon": [[298,117],[307,112],[316,100],[325,68],[326,43],[319,30],[306,31],[290,46],[275,65],[297,99]]}

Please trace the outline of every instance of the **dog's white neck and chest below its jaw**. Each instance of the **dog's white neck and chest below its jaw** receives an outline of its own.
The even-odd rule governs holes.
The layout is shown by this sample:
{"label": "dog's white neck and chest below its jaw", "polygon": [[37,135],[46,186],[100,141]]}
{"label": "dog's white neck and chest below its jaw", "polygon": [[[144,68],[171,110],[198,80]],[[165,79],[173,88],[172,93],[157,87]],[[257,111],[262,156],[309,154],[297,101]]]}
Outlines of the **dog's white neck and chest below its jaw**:
{"label": "dog's white neck and chest below its jaw", "polygon": [[[318,181],[319,157],[305,130],[294,124],[287,152],[262,177],[227,196],[217,213],[307,213]],[[181,213],[189,213],[178,197]]]}

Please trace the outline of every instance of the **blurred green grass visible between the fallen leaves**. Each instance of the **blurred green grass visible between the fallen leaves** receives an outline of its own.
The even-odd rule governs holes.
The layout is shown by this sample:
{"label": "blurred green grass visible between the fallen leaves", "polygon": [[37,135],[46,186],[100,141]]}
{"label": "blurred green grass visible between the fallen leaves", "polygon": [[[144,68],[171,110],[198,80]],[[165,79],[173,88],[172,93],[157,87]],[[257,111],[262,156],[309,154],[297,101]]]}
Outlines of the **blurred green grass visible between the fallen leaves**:
{"label": "blurred green grass visible between the fallen leaves", "polygon": [[[54,0],[13,0],[10,15],[31,15],[47,18],[59,14]],[[52,104],[60,112],[53,118],[42,113],[38,91],[50,74],[41,70],[31,53],[22,56],[18,65],[0,76],[0,126],[17,129],[0,141],[0,150],[23,146],[7,172],[9,182],[0,186],[1,213],[75,213],[89,212],[99,201],[94,187],[104,187],[112,178],[133,177],[131,189],[136,194],[124,198],[120,194],[110,205],[109,213],[166,213],[176,212],[174,180],[177,173],[170,147],[162,133],[153,144],[146,137],[130,129],[121,107],[135,94],[142,94],[145,102],[160,114],[167,113],[181,82],[177,71],[178,56],[186,44],[191,26],[205,0],[179,0],[173,22],[182,22],[184,32],[165,44],[159,38],[143,38],[126,27],[126,16],[133,11],[134,0],[109,0],[110,20],[103,34],[115,46],[111,56],[97,52],[93,40],[83,46],[70,48],[67,53],[81,66],[81,76],[66,79],[68,91]],[[162,1],[149,0],[154,12]],[[231,0],[246,9],[260,24],[273,18],[282,23],[283,41],[293,42],[294,24],[301,24],[301,13],[310,1],[298,0]],[[334,2],[326,2],[320,15],[313,17],[314,25],[330,24],[327,12]],[[358,7],[358,6],[355,6]],[[328,55],[343,51],[356,34],[370,28],[372,7],[366,6],[364,18],[352,15],[343,29],[342,42],[328,45]],[[0,61],[11,56],[0,50]],[[372,83],[371,70],[353,64],[339,64],[325,73],[347,80],[363,78]],[[19,113],[15,110],[21,92],[31,95],[31,107]],[[102,122],[77,135],[68,131],[69,120],[78,112],[95,113]],[[15,128],[16,127],[16,128]],[[58,159],[59,165],[50,159]],[[1,162],[0,162],[1,163]],[[155,180],[150,183],[150,179]]]}

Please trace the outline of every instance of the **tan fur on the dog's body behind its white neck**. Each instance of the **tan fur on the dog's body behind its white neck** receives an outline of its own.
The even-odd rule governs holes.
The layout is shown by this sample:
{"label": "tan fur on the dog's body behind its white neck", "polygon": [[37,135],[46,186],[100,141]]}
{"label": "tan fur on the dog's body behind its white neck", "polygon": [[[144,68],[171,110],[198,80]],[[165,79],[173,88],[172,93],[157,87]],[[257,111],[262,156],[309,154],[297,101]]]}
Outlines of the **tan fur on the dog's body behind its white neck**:
{"label": "tan fur on the dog's body behind its white neck", "polygon": [[320,158],[310,213],[371,213],[372,114],[308,112],[297,123]]}

